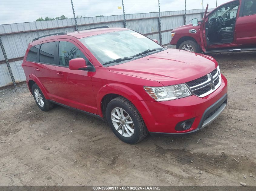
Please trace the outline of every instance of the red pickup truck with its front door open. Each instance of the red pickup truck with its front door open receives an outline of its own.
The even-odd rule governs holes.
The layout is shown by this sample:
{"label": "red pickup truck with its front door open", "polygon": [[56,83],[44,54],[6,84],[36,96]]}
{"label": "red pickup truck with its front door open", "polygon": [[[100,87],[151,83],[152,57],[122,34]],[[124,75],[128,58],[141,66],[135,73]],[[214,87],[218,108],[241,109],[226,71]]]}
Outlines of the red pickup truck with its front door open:
{"label": "red pickup truck with its front door open", "polygon": [[[256,0],[224,3],[204,18],[171,31],[172,48],[196,53],[256,50]],[[207,15],[206,15],[207,14]]]}

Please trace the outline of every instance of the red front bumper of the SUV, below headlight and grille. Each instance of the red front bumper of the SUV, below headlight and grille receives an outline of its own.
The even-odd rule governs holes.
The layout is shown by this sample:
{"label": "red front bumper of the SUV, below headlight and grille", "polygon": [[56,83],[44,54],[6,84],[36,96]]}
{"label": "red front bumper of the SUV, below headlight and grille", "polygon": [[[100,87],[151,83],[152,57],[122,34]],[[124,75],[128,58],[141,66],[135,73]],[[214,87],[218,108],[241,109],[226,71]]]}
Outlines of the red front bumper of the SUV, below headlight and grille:
{"label": "red front bumper of the SUV, below headlight and grille", "polygon": [[[170,101],[132,101],[151,134],[173,135],[196,132],[212,123],[227,105],[227,79],[205,97],[195,95]],[[207,119],[206,119],[207,117]],[[192,121],[188,130],[176,130],[178,123]]]}

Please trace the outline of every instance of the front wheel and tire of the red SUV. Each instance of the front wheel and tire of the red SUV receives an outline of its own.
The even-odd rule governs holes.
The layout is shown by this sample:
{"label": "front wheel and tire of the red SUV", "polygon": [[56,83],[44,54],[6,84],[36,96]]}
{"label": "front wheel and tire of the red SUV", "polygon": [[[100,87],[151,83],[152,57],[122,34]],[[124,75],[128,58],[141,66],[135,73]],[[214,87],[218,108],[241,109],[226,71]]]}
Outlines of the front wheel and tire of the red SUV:
{"label": "front wheel and tire of the red SUV", "polygon": [[[117,110],[121,116],[118,115]],[[148,129],[145,126],[139,111],[124,97],[116,97],[111,100],[107,105],[105,116],[112,131],[123,142],[135,144],[148,135]],[[121,121],[118,117],[121,118]],[[117,122],[112,121],[112,119]]]}

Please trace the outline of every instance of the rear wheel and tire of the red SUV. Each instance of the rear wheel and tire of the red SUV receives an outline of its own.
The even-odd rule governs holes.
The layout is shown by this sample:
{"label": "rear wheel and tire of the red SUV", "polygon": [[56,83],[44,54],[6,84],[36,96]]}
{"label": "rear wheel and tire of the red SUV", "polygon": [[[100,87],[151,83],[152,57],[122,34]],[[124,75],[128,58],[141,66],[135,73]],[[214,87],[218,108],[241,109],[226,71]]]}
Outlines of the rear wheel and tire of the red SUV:
{"label": "rear wheel and tire of the red SUV", "polygon": [[53,108],[54,104],[45,99],[44,94],[37,84],[33,84],[32,94],[34,96],[35,103],[40,108],[40,110],[48,111]]}

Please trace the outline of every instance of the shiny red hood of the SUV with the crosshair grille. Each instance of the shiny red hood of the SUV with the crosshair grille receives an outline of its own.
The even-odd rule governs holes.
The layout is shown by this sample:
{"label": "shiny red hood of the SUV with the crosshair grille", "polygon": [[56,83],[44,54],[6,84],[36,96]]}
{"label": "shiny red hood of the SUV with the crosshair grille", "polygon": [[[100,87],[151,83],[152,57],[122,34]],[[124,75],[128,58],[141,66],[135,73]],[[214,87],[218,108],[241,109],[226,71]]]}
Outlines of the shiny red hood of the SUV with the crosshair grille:
{"label": "shiny red hood of the SUV with the crosshair grille", "polygon": [[217,61],[211,56],[166,49],[107,68],[112,72],[154,80],[168,86],[200,78],[212,72],[217,66]]}

